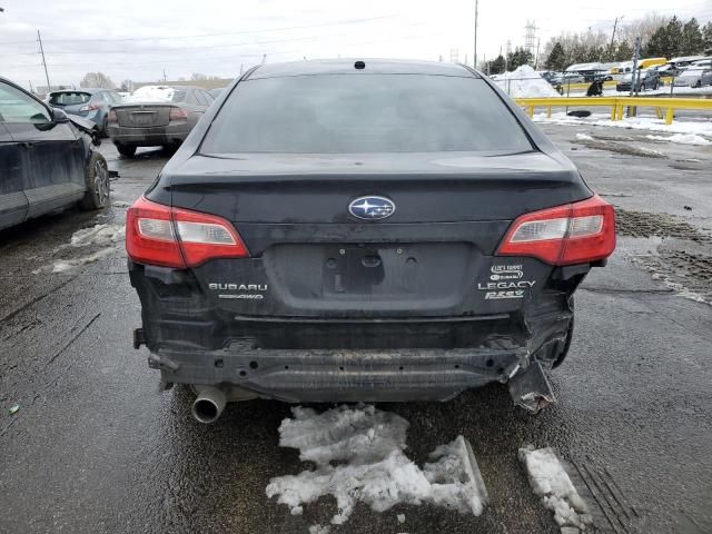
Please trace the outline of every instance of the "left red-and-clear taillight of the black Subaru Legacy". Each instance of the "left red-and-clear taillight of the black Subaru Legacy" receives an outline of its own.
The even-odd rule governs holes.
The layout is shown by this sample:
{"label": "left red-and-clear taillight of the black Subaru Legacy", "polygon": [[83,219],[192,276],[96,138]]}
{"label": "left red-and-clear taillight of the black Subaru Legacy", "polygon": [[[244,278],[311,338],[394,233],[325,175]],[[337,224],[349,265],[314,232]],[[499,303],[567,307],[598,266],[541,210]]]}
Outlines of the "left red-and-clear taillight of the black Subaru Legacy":
{"label": "left red-and-clear taillight of the black Subaru Legacy", "polygon": [[126,214],[126,250],[139,264],[176,268],[249,256],[233,225],[221,217],[171,208],[145,197]]}

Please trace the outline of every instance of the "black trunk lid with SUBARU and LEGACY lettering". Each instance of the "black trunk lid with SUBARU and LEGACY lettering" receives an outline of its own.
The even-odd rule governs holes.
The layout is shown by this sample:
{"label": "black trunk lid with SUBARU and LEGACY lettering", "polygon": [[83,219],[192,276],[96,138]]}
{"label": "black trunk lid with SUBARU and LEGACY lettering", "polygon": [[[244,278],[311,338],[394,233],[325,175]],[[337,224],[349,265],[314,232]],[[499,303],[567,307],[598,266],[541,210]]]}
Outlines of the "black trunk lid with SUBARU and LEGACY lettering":
{"label": "black trunk lid with SUBARU and LEGACY lettering", "polygon": [[[511,221],[591,196],[568,160],[535,151],[194,156],[179,168],[166,169],[168,202],[224,217],[250,251],[249,259],[192,269],[212,305],[238,316],[516,310],[552,268],[493,257]],[[348,207],[363,196],[385,197],[395,210],[380,220],[357,219]]]}

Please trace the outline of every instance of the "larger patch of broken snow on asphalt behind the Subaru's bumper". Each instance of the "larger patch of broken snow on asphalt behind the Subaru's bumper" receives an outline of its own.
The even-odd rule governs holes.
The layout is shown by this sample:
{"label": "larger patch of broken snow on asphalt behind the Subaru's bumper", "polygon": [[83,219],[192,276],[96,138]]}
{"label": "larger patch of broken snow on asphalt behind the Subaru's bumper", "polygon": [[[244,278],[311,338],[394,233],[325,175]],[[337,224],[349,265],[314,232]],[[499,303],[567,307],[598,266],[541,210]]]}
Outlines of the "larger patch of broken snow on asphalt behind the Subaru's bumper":
{"label": "larger patch of broken snow on asphalt behind the Subaru's bumper", "polygon": [[[336,497],[333,524],[348,521],[358,501],[375,512],[399,503],[429,503],[461,513],[482,514],[487,494],[469,444],[458,436],[431,454],[423,468],[406,457],[408,422],[374,406],[340,406],[317,414],[295,407],[279,426],[279,445],[299,449],[316,469],[275,477],[267,496],[293,515],[325,495]],[[315,525],[318,526],[318,525]],[[316,531],[318,532],[318,531]]]}

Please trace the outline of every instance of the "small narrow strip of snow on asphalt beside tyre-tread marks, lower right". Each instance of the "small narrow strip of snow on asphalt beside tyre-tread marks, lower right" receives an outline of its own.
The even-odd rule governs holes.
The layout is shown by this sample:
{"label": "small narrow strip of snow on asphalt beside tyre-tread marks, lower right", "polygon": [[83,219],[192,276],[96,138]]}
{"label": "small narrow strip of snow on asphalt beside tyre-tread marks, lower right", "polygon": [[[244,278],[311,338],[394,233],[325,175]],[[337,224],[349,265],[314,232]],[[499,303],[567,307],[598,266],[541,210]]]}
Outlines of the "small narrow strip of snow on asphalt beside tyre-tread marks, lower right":
{"label": "small narrow strip of snow on asphalt beside tyre-tread marks, lower right", "polygon": [[554,513],[558,526],[573,526],[585,530],[593,523],[581,498],[551,447],[527,446],[520,448],[520,461],[524,464],[534,493],[542,497],[542,503]]}

